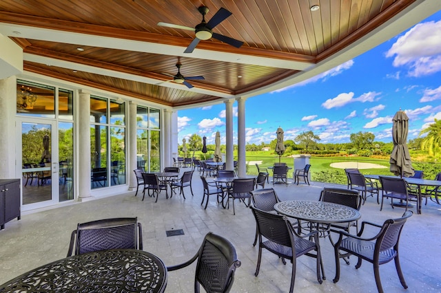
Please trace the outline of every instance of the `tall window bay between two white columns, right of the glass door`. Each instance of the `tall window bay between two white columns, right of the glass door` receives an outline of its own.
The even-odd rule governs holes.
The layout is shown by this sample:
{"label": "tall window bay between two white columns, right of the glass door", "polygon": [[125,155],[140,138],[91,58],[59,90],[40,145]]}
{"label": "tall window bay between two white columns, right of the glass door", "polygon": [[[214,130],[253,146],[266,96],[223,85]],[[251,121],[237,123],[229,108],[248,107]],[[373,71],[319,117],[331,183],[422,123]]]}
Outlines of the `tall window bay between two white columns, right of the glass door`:
{"label": "tall window bay between two white columns, right of the glass door", "polygon": [[91,188],[125,184],[125,104],[91,96],[90,122]]}

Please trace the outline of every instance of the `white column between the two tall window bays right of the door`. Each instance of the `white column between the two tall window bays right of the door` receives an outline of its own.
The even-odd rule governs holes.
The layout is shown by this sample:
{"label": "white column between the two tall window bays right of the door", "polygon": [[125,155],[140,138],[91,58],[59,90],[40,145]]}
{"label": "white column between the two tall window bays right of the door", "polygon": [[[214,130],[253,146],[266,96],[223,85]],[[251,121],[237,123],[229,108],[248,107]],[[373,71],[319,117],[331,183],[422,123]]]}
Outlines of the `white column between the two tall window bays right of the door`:
{"label": "white column between the two tall window bays right of the door", "polygon": [[136,104],[134,102],[129,102],[129,116],[128,116],[128,133],[127,136],[127,158],[128,158],[128,172],[129,172],[129,189],[132,190],[136,188],[136,175],[133,172],[134,169],[138,168],[138,161],[136,158]]}

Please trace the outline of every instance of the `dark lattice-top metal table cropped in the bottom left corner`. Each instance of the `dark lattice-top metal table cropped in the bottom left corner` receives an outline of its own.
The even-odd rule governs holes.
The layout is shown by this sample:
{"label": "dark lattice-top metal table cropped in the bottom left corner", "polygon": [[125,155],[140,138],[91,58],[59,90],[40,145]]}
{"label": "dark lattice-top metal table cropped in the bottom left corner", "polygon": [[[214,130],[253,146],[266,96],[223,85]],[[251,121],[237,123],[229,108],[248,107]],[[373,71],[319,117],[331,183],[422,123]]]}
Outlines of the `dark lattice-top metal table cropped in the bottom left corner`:
{"label": "dark lattice-top metal table cropped in the bottom left corner", "polygon": [[30,270],[0,292],[164,292],[167,268],[143,250],[77,254]]}

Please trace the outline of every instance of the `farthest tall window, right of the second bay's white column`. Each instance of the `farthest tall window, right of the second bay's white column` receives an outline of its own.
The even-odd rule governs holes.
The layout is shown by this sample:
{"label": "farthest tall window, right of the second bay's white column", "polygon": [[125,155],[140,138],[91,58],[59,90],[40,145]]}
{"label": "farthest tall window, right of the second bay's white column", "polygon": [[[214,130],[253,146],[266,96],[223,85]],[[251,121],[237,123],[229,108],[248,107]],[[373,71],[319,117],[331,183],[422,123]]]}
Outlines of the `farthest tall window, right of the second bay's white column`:
{"label": "farthest tall window, right of the second bay's white column", "polygon": [[158,109],[137,107],[136,150],[138,167],[147,172],[161,171],[161,116]]}

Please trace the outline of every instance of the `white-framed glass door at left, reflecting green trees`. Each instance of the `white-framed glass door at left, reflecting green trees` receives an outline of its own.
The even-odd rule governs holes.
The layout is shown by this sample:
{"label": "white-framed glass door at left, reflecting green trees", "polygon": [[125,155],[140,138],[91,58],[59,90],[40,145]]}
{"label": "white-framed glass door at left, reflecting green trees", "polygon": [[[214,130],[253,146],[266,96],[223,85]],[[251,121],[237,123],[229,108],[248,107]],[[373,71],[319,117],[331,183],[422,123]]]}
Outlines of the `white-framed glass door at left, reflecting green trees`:
{"label": "white-framed glass door at left, reflecting green trees", "polygon": [[57,204],[60,168],[58,135],[54,131],[54,122],[36,122],[23,118],[20,128],[22,210]]}

